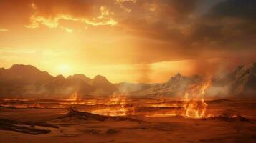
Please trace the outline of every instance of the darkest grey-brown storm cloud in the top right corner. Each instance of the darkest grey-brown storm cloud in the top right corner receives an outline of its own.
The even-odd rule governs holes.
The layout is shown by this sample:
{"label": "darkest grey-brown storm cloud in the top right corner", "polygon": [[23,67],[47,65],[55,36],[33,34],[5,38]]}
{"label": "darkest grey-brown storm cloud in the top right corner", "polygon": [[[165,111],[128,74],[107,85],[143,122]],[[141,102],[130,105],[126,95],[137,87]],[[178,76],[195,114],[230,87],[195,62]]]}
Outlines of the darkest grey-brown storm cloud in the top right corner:
{"label": "darkest grey-brown storm cloud in the top right corner", "polygon": [[223,1],[198,19],[189,40],[217,49],[255,49],[255,8],[253,0]]}

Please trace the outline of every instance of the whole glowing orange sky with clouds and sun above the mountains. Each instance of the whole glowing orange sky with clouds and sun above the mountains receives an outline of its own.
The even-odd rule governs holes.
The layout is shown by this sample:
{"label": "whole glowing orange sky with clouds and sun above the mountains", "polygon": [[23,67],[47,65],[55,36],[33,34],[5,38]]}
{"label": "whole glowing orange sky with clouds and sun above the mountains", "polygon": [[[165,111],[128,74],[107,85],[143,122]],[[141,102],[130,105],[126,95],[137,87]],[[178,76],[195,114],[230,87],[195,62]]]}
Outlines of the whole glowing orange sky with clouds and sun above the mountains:
{"label": "whole glowing orange sky with clouds and sun above the mountains", "polygon": [[0,0],[0,67],[165,82],[256,59],[255,0]]}

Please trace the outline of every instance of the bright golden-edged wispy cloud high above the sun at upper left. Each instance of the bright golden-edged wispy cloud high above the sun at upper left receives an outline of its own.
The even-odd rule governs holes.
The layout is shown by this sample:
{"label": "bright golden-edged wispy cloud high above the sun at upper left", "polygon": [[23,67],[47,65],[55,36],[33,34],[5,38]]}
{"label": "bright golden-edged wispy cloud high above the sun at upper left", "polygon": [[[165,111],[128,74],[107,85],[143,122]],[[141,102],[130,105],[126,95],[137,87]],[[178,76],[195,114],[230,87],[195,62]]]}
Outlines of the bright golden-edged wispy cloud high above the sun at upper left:
{"label": "bright golden-edged wispy cloud high above the sun at upper left", "polygon": [[[70,3],[67,4],[72,3],[70,1]],[[75,7],[77,6],[78,5],[75,5]],[[113,15],[113,12],[110,12],[107,6],[100,6],[98,8],[98,11],[100,11],[99,15],[95,17],[89,16],[88,14],[85,14],[85,16],[80,16],[80,14],[77,14],[77,11],[66,12],[67,9],[71,10],[71,7],[72,5],[60,5],[60,11],[56,10],[52,12],[49,11],[49,9],[52,9],[51,6],[44,5],[44,3],[32,3],[31,8],[34,10],[34,14],[32,14],[30,17],[30,24],[25,25],[25,27],[35,29],[39,28],[40,25],[44,25],[49,28],[62,28],[68,33],[72,33],[74,29],[62,26],[60,21],[78,21],[82,24],[86,24],[87,26],[113,26],[117,24],[117,21],[110,17]],[[77,8],[81,9],[83,6]],[[87,8],[87,6],[85,8]]]}

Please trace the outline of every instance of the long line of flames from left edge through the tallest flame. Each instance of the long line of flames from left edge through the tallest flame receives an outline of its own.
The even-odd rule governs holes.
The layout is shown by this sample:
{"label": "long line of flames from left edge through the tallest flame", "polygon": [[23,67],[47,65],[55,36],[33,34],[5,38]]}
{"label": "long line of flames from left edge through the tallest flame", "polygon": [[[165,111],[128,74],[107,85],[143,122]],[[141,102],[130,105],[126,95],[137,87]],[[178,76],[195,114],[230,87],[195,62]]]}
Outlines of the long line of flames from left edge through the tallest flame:
{"label": "long line of flames from left edge through the tallest flame", "polygon": [[[177,101],[171,98],[150,99],[128,98],[125,94],[114,93],[108,98],[80,98],[77,92],[68,99],[54,100],[27,100],[27,99],[0,99],[1,107],[16,108],[68,108],[75,106],[78,109],[94,114],[108,116],[141,115],[146,117],[186,117],[207,118],[207,103],[204,102],[206,89],[210,86],[209,79],[190,85],[184,92],[184,100]],[[133,102],[133,104],[131,104]]]}

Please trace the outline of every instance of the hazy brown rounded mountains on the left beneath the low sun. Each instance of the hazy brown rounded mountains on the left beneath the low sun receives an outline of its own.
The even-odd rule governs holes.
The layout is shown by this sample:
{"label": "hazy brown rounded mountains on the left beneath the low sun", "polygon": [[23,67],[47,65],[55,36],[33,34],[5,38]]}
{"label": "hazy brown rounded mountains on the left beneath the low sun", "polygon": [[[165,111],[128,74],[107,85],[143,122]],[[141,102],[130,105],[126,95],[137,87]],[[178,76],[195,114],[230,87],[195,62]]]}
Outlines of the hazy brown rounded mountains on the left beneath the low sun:
{"label": "hazy brown rounded mountains on the left beneath the low sun", "polygon": [[53,77],[31,65],[14,64],[10,69],[0,69],[1,97],[69,97],[77,94],[108,95],[117,89],[103,76],[93,79],[83,74],[74,74],[67,78],[62,75]]}

